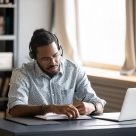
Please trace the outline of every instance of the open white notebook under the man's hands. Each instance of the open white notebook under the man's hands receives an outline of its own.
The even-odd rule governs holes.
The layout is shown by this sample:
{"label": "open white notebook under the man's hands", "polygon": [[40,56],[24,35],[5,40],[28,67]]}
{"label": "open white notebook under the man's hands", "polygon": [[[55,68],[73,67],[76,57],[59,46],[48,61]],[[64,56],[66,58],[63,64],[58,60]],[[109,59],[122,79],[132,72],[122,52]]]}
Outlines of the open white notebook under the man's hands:
{"label": "open white notebook under the man's hands", "polygon": [[56,113],[47,113],[45,115],[37,115],[36,118],[44,119],[44,120],[90,120],[92,119],[91,116],[87,115],[80,115],[80,117],[76,119],[69,119],[64,114],[56,114]]}

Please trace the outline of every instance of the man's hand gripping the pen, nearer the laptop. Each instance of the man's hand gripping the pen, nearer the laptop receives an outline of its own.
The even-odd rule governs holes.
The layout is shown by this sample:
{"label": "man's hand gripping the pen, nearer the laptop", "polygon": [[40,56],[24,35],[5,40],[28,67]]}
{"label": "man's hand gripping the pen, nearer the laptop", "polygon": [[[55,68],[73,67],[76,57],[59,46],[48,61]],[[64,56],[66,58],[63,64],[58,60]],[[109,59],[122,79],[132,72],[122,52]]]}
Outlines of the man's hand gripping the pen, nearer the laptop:
{"label": "man's hand gripping the pen, nearer the laptop", "polygon": [[80,115],[89,115],[95,111],[95,107],[92,103],[75,101],[73,105],[78,109]]}

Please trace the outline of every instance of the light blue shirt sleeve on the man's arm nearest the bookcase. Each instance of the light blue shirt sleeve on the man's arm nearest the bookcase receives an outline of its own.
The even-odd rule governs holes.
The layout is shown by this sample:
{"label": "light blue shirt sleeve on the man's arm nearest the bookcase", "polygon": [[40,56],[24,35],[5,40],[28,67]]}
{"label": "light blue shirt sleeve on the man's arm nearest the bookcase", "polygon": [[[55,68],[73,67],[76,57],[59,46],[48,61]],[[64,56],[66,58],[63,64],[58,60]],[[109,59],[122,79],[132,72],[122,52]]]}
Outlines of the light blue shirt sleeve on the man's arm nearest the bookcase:
{"label": "light blue shirt sleeve on the man's arm nearest the bookcase", "polygon": [[24,71],[16,69],[12,72],[8,94],[8,110],[20,104],[28,103],[29,80]]}

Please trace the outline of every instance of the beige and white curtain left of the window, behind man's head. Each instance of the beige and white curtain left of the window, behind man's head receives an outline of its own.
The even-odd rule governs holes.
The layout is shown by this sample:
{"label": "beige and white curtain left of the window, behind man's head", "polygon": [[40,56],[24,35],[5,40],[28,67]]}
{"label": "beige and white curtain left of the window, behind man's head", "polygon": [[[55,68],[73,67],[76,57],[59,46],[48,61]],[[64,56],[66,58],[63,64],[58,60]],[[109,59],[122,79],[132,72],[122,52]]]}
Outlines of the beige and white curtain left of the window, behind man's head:
{"label": "beige and white curtain left of the window, behind man's head", "polygon": [[54,0],[54,29],[64,57],[80,63],[77,43],[76,0]]}

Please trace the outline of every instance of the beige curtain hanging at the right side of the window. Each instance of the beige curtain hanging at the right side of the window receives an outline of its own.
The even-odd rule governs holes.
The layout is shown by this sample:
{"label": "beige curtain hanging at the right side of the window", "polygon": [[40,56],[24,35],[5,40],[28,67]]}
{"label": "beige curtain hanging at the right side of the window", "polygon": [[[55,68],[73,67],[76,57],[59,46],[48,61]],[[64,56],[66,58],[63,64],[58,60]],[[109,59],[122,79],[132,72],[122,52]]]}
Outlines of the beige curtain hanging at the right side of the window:
{"label": "beige curtain hanging at the right side of the window", "polygon": [[136,70],[136,0],[126,0],[125,62],[121,74],[130,75]]}

